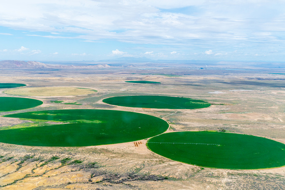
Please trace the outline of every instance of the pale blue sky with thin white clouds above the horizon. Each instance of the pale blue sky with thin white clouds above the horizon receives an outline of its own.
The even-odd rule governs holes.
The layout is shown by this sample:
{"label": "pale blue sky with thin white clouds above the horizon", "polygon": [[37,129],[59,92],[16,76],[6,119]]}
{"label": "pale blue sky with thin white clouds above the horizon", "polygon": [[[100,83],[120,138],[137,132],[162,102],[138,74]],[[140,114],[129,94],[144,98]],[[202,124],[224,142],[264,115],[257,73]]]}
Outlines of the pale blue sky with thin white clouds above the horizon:
{"label": "pale blue sky with thin white clouds above the horizon", "polygon": [[284,61],[285,0],[6,0],[0,60]]}

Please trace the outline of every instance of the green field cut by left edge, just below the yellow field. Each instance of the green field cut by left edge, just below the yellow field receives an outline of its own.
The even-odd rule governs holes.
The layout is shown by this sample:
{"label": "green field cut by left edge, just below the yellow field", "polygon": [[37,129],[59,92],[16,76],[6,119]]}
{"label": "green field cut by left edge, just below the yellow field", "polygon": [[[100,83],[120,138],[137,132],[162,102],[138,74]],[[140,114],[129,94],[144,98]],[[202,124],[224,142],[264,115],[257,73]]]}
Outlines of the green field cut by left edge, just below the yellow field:
{"label": "green field cut by left edge, just below the yellow field", "polygon": [[0,112],[33,108],[43,102],[30,98],[0,97]]}

